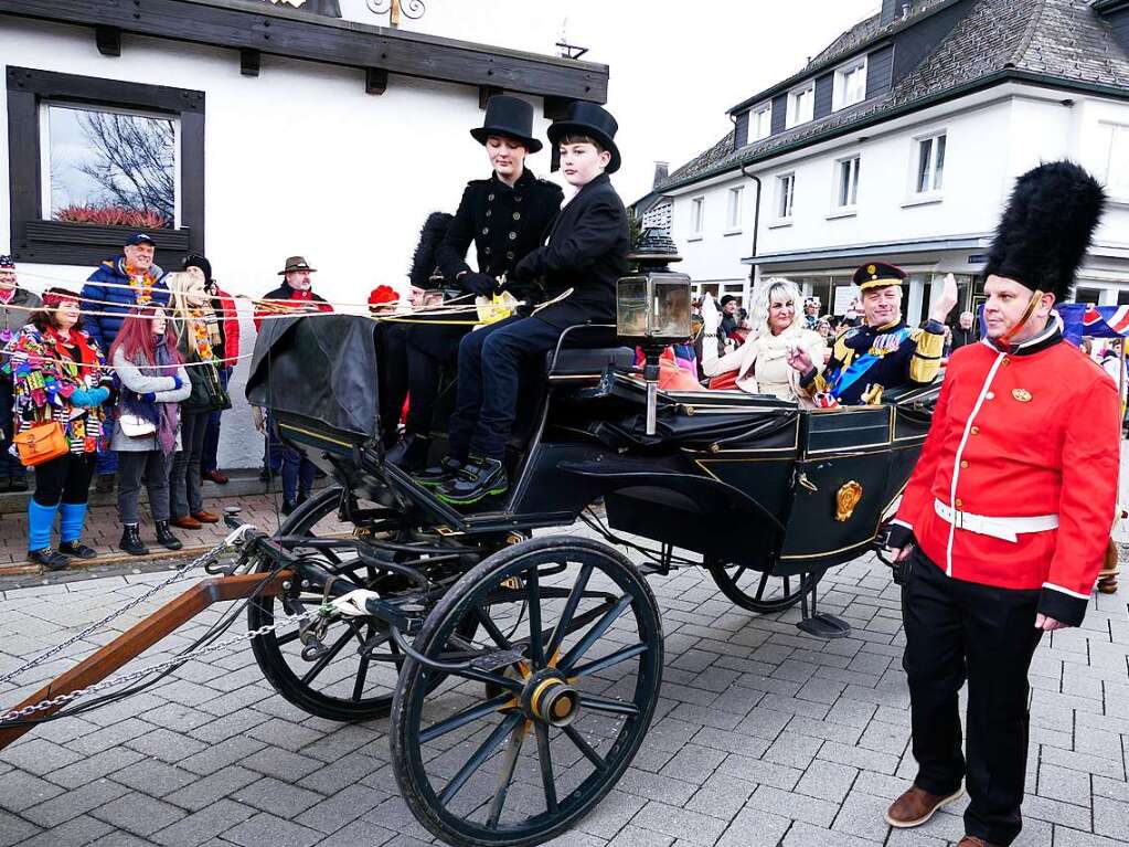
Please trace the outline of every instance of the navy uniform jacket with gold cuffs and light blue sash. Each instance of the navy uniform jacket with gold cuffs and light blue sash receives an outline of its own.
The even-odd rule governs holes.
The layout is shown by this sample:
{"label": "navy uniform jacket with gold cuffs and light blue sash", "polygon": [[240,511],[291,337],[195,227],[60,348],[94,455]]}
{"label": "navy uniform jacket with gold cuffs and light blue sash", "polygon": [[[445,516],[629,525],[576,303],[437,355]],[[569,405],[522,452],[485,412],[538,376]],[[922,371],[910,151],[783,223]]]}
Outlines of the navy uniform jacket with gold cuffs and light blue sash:
{"label": "navy uniform jacket with gold cuffs and light blue sash", "polygon": [[902,322],[885,326],[855,326],[835,339],[822,374],[813,368],[800,385],[825,392],[843,405],[881,400],[882,391],[917,383],[928,385],[940,369],[945,328],[926,321],[919,328]]}

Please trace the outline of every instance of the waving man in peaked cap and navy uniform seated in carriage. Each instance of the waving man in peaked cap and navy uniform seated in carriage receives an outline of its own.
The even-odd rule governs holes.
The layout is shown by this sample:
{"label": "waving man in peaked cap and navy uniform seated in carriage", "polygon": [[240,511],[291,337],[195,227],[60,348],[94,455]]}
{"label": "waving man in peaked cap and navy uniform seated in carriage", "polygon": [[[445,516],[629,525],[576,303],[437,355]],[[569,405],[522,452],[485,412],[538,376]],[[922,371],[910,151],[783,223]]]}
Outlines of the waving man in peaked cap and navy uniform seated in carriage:
{"label": "waving man in peaked cap and navy uniform seated in carriage", "polygon": [[803,372],[800,385],[816,395],[817,404],[879,403],[883,391],[908,383],[926,385],[937,376],[945,318],[956,305],[956,280],[952,273],[945,277],[929,320],[917,329],[902,320],[904,280],[901,268],[885,262],[864,264],[855,271],[855,285],[863,297],[863,325],[835,339],[822,374],[803,350],[789,359]]}

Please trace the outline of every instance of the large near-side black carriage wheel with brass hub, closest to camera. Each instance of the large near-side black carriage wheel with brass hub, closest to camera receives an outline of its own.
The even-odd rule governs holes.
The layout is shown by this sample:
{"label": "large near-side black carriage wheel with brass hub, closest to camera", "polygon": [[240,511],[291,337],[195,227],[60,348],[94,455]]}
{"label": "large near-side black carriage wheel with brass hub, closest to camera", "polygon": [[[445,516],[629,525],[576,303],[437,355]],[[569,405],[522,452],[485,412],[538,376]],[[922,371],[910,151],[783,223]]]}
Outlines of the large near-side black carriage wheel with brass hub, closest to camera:
{"label": "large near-side black carriage wheel with brass hub, closest to camera", "polygon": [[414,650],[447,661],[444,645],[467,619],[481,625],[473,669],[429,690],[436,672],[404,664],[392,709],[396,780],[445,841],[541,844],[596,805],[647,732],[663,671],[655,597],[615,550],[545,536],[470,570]]}

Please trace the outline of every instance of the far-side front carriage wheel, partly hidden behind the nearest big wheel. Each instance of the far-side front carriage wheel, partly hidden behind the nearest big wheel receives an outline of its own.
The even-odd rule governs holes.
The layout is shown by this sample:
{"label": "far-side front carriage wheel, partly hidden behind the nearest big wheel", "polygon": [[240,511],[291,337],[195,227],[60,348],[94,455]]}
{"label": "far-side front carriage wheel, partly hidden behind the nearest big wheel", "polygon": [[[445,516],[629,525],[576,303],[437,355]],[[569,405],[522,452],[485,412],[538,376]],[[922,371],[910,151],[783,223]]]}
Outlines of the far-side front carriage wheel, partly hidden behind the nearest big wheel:
{"label": "far-side front carriage wheel, partly hidden behind the nearest big wheel", "polygon": [[[341,496],[341,488],[318,492],[282,523],[279,534],[313,538],[325,534],[326,518],[335,517]],[[356,553],[339,550],[329,555],[334,564],[356,575],[353,582],[365,584],[369,574]],[[260,569],[266,567],[263,565]],[[275,613],[297,612],[295,602],[305,609],[316,609],[322,603],[322,592],[303,592],[297,601],[288,602],[291,604],[289,611],[280,597],[255,597],[247,606],[247,627],[256,629],[271,623]],[[470,635],[473,632],[471,628]],[[387,635],[386,628],[367,620],[360,623],[349,619],[335,621],[324,639],[330,652],[315,662],[301,657],[297,629],[282,635],[268,632],[253,639],[251,647],[266,681],[303,711],[329,721],[368,721],[388,714],[404,661],[403,653]],[[379,646],[368,657],[360,656],[358,648],[370,639],[379,641]]]}

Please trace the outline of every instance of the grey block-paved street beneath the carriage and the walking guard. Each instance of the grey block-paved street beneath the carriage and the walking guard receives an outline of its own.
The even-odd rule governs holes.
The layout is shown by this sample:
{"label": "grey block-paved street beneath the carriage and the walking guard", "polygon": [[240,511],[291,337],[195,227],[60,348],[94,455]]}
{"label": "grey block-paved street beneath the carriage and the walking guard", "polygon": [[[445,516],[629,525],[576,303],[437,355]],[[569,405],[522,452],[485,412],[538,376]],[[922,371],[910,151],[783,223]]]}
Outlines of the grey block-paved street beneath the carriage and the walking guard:
{"label": "grey block-paved street beneath the carriage and the walking guard", "polygon": [[[0,594],[0,675],[164,576]],[[864,558],[832,570],[825,584],[821,602],[849,620],[850,638],[802,635],[795,610],[744,612],[699,569],[653,577],[666,634],[654,724],[618,786],[554,844],[955,842],[961,805],[913,831],[891,831],[882,819],[914,771],[889,573]],[[1051,635],[1039,648],[1017,845],[1129,842],[1127,591],[1095,597],[1083,629]],[[217,614],[139,662],[184,647]],[[107,639],[91,637],[84,650]],[[81,653],[35,669],[19,689],[0,683],[0,702],[16,702]],[[387,721],[342,725],[290,706],[243,645],[190,663],[131,699],[42,726],[0,753],[0,846],[430,842],[397,793],[387,732]]]}

